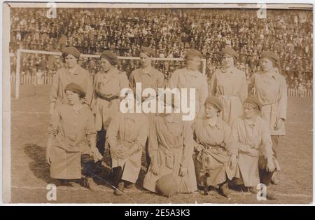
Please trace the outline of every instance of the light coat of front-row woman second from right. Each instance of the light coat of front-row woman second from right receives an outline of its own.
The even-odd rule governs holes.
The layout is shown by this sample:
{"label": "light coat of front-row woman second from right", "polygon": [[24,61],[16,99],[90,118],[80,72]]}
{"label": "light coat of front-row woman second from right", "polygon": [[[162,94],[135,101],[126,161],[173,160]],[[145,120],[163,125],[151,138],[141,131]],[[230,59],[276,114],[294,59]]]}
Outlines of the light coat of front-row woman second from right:
{"label": "light coat of front-row woman second from right", "polygon": [[[228,179],[239,177],[237,166],[230,167],[232,153],[237,153],[230,143],[231,128],[221,118],[216,125],[207,123],[207,118],[197,118],[193,124],[194,139],[196,144],[203,146],[202,151],[196,152],[195,167],[197,181],[204,186],[204,175],[209,173],[207,186],[222,184]],[[209,148],[210,149],[207,149]]]}

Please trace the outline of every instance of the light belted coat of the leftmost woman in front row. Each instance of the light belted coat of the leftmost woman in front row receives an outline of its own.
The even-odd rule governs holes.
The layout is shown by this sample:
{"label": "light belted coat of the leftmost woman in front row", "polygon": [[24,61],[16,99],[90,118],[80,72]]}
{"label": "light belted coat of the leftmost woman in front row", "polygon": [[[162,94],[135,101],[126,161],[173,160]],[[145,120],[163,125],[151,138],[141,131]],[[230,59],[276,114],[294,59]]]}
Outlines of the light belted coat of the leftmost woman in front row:
{"label": "light belted coat of the leftmost woman in front row", "polygon": [[89,139],[96,139],[92,111],[87,106],[79,111],[68,104],[57,106],[50,119],[49,135],[55,137],[50,149],[50,177],[80,179],[80,156],[90,153]]}

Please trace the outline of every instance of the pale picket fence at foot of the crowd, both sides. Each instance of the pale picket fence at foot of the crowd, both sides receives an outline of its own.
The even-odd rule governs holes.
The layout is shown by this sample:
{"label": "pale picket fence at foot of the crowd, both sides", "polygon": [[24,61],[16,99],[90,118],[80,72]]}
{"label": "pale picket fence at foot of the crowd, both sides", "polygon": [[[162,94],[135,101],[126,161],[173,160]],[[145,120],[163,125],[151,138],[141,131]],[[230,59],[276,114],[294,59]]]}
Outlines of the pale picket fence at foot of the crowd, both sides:
{"label": "pale picket fence at foot of the crowd, both sides", "polygon": [[[16,82],[14,74],[11,75],[11,83]],[[52,83],[52,76],[42,76],[40,78],[36,76],[21,76],[20,83],[34,84],[34,85],[47,85]],[[255,93],[255,91],[253,91]],[[313,90],[298,90],[294,88],[288,88],[288,97],[313,97]]]}

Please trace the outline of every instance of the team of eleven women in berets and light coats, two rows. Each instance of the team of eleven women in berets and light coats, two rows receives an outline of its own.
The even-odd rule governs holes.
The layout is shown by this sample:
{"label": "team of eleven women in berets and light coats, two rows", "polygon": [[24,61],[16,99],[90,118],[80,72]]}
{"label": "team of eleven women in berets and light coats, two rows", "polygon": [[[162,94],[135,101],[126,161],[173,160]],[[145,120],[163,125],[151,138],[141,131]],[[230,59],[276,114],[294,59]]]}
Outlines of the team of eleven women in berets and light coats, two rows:
{"label": "team of eleven women in berets and light coats, two rows", "polygon": [[[50,92],[50,127],[46,160],[57,184],[80,179],[83,186],[97,190],[94,167],[109,149],[115,194],[132,188],[146,152],[147,172],[143,186],[162,195],[207,194],[218,187],[228,197],[230,186],[257,193],[258,184],[277,184],[272,179],[280,170],[276,150],[279,136],[285,135],[286,81],[279,74],[279,57],[271,51],[261,54],[262,71],[248,81],[235,67],[237,53],[230,46],[222,51],[222,68],[211,76],[200,73],[202,55],[186,52],[185,67],[176,70],[167,85],[154,69],[152,48],[141,48],[141,68],[128,79],[117,69],[118,57],[110,50],[100,56],[102,71],[91,78],[78,65],[80,52],[65,48],[66,67],[55,74]],[[195,88],[196,116],[183,121],[174,96],[164,99],[171,113],[120,112],[124,88]],[[248,95],[254,88],[255,95]],[[134,95],[137,92],[134,92]],[[157,92],[158,94],[158,92]],[[124,96],[125,95],[125,96]],[[165,94],[166,95],[166,94]],[[156,97],[133,99],[134,106]],[[106,138],[105,138],[106,137]],[[106,139],[101,146],[97,140]],[[274,194],[267,191],[267,198]]]}

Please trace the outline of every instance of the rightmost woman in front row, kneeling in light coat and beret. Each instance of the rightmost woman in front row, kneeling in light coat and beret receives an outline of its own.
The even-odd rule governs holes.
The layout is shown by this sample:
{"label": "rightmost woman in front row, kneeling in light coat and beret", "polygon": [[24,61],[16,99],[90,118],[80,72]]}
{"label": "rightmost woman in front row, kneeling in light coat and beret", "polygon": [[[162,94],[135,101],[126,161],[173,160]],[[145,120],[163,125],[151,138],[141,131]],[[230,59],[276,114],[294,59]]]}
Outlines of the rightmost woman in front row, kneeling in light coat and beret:
{"label": "rightmost woman in front row, kneeling in light coat and beret", "polygon": [[[248,96],[243,115],[232,126],[232,142],[238,151],[241,181],[251,193],[257,193],[258,184],[269,185],[279,164],[272,151],[269,125],[260,117],[261,103],[257,97]],[[274,198],[268,190],[267,198]]]}

